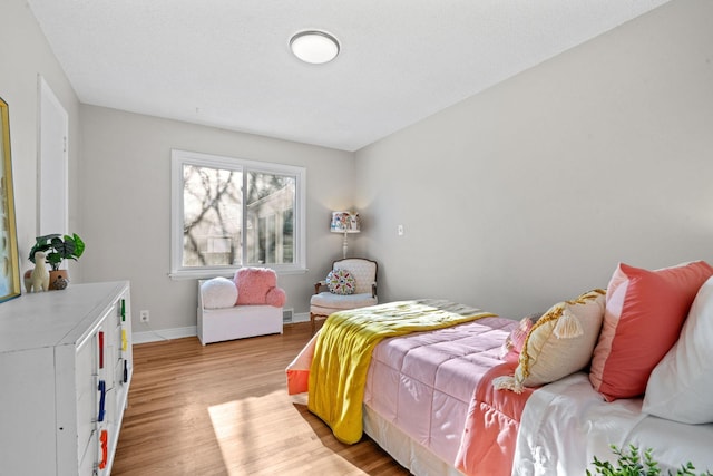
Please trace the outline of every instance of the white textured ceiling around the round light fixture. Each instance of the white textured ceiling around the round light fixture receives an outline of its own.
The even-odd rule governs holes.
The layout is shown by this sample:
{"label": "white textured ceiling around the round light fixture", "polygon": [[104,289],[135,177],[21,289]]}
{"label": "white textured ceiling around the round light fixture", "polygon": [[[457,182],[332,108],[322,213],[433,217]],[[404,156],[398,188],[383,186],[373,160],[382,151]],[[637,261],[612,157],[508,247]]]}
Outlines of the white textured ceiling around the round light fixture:
{"label": "white textured ceiling around the round light fixture", "polygon": [[[668,0],[28,0],[81,103],[356,150]],[[328,65],[290,37],[341,41]]]}

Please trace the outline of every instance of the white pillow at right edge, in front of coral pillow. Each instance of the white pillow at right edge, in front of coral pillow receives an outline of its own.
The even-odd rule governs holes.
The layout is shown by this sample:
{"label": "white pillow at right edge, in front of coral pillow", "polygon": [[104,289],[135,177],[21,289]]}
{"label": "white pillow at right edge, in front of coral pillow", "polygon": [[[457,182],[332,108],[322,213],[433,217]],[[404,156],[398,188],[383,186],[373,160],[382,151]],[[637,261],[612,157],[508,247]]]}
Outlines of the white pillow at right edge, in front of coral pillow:
{"label": "white pillow at right edge, in front of coral pillow", "polygon": [[642,411],[684,424],[713,422],[713,278],[701,286],[678,341],[648,378]]}

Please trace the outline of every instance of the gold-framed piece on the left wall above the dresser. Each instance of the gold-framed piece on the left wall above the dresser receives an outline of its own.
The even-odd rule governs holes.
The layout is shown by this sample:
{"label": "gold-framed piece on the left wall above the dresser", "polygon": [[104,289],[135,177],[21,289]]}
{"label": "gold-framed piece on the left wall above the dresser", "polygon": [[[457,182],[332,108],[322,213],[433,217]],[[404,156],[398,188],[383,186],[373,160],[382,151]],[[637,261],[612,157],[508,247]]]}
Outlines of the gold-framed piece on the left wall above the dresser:
{"label": "gold-framed piece on the left wall above the dresser", "polygon": [[0,98],[0,302],[20,295],[20,264],[14,222],[10,113]]}

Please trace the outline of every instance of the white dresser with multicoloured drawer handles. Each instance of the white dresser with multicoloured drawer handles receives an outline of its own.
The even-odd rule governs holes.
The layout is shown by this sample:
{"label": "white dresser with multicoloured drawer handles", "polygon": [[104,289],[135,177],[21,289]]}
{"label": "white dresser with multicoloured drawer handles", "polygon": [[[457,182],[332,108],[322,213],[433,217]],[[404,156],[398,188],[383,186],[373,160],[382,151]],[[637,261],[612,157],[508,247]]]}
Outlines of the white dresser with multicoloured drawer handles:
{"label": "white dresser with multicoloured drawer handles", "polygon": [[0,303],[0,475],[108,475],[131,371],[128,282]]}

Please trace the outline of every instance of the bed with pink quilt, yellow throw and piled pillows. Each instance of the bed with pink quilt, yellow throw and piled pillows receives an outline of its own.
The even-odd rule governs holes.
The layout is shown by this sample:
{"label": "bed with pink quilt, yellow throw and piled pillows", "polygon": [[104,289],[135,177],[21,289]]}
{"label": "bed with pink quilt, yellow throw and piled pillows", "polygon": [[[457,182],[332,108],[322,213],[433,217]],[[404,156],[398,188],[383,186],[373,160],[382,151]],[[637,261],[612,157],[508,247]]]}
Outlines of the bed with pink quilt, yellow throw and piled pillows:
{"label": "bed with pink quilt, yellow throw and piled pillows", "polygon": [[[338,439],[354,443],[363,431],[416,475],[585,474],[595,456],[615,460],[611,445],[651,448],[664,473],[686,462],[711,470],[711,275],[703,262],[655,271],[619,264],[606,291],[519,321],[432,300],[332,314],[287,367],[287,386],[310,391],[310,410]],[[377,338],[367,346],[363,378],[323,378],[330,356],[342,352],[334,360],[345,361],[359,353],[348,350],[345,359],[351,339],[343,328],[363,334],[365,321],[394,308],[416,315],[423,307],[455,310],[456,318]],[[632,329],[635,338],[626,336]],[[672,332],[672,343],[655,342]],[[336,347],[330,334],[338,336]],[[637,354],[634,367],[648,359],[648,371],[613,371],[621,367],[617,352],[631,359],[639,348],[656,348]],[[604,366],[602,352],[608,352]],[[343,389],[361,379],[361,389]],[[325,392],[333,395],[320,401]]]}

